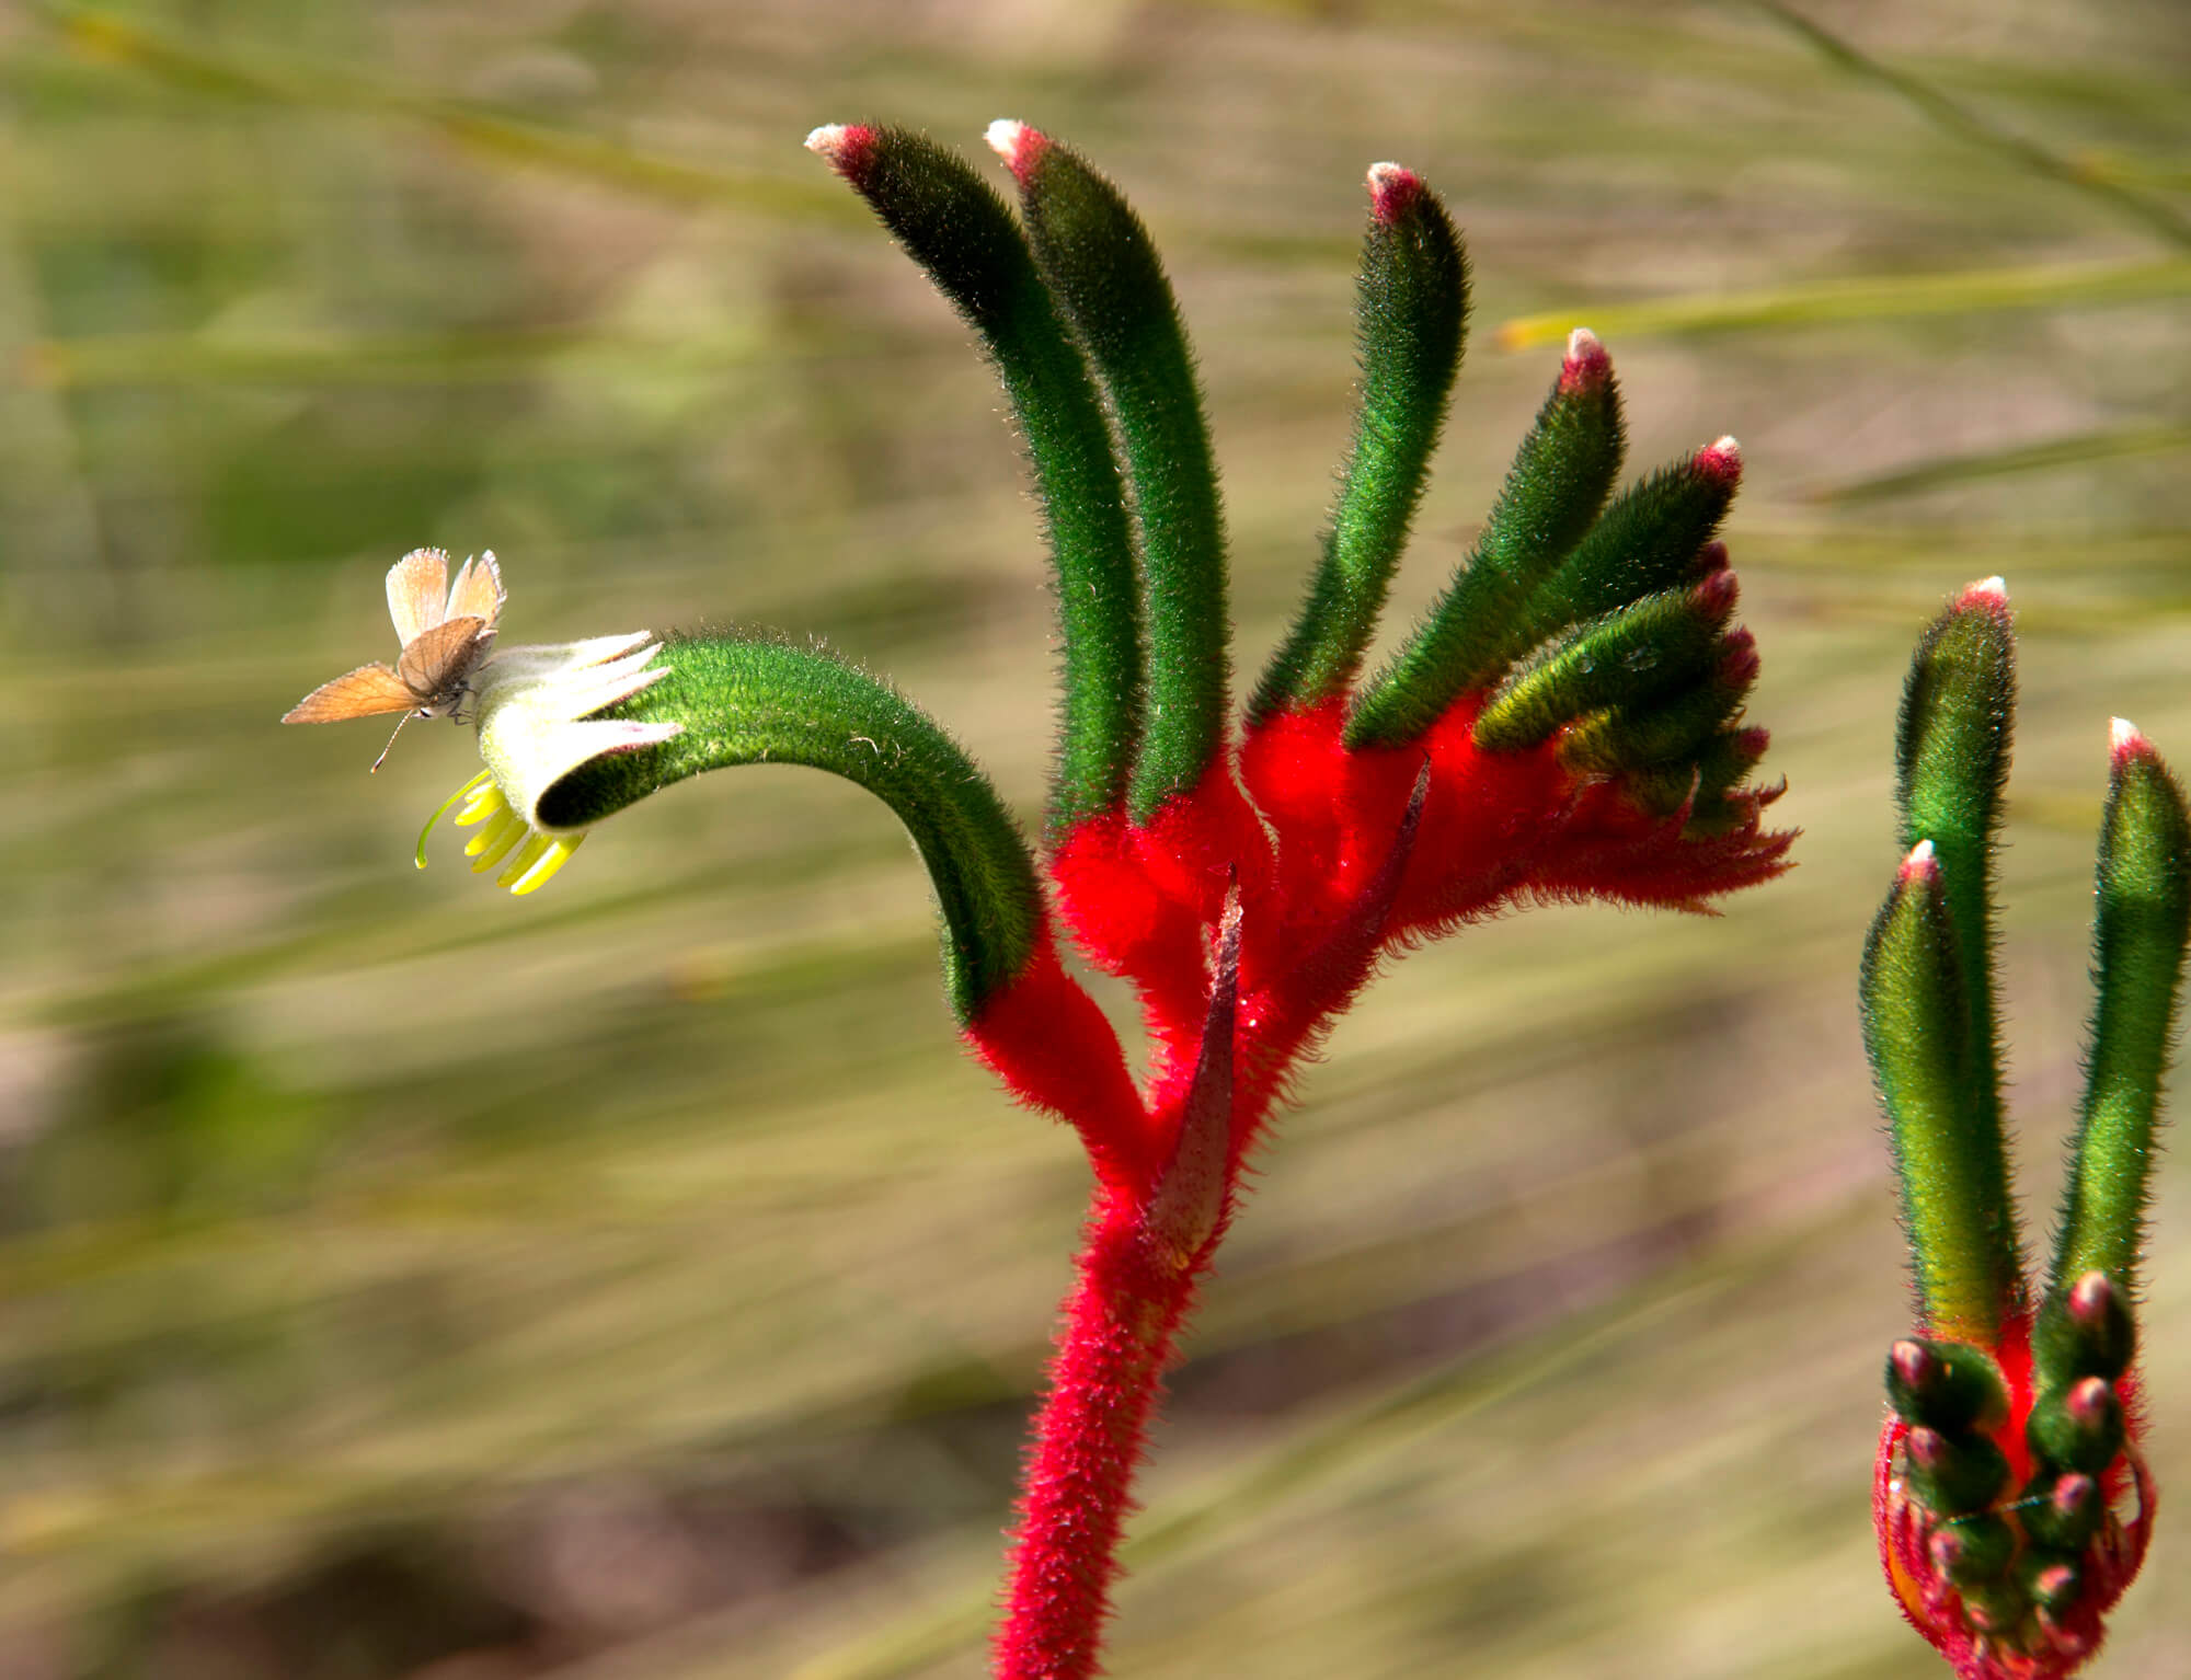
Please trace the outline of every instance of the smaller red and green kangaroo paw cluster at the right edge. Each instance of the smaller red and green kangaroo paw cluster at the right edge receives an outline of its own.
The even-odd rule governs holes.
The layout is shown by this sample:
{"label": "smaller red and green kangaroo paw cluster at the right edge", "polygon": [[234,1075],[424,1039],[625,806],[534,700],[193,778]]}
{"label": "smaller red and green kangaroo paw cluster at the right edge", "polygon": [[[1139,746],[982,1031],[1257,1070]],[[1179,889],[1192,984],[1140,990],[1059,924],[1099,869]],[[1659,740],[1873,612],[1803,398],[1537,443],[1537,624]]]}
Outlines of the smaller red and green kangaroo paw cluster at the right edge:
{"label": "smaller red and green kangaroo paw cluster at the right edge", "polygon": [[1902,703],[1908,852],[1865,951],[1865,1040],[1891,1121],[1917,1334],[1886,1356],[1873,1470],[1902,1614],[1961,1680],[2060,1680],[2145,1562],[2134,1262],[2184,940],[2191,821],[2117,718],[2099,837],[2099,1003],[2055,1257],[2033,1308],[2009,1196],[1992,850],[2014,721],[1998,578],[1926,631]]}

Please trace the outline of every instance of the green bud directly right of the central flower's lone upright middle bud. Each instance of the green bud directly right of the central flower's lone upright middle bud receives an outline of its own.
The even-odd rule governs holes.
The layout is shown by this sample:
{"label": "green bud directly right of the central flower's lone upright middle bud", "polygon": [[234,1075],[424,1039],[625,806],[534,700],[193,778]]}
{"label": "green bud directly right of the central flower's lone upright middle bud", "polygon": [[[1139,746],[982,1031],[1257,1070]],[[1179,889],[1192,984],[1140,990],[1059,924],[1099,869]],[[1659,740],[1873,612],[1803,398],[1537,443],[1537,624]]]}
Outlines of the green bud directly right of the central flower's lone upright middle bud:
{"label": "green bud directly right of the central flower's lone upright middle bud", "polygon": [[1398,747],[1420,738],[1455,699],[1492,681],[1542,640],[1521,637],[1514,615],[1591,530],[1619,477],[1624,451],[1613,361],[1593,333],[1578,329],[1468,563],[1400,655],[1363,690],[1347,721],[1350,747]]}

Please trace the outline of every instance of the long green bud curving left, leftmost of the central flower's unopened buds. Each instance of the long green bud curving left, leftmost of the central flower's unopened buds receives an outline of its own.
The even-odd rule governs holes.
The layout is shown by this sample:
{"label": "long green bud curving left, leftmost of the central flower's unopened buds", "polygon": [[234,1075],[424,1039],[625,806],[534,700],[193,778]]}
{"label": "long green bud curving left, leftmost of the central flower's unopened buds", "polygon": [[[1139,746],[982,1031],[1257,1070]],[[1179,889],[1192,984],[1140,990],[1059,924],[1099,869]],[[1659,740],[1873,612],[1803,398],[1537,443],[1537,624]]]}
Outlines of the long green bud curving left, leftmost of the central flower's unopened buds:
{"label": "long green bud curving left, leftmost of the central flower's unopened buds", "polygon": [[1049,826],[1069,828],[1124,797],[1142,683],[1133,530],[1087,359],[1010,208],[962,158],[894,127],[822,127],[806,145],[874,206],[1003,379],[1056,567],[1065,668]]}

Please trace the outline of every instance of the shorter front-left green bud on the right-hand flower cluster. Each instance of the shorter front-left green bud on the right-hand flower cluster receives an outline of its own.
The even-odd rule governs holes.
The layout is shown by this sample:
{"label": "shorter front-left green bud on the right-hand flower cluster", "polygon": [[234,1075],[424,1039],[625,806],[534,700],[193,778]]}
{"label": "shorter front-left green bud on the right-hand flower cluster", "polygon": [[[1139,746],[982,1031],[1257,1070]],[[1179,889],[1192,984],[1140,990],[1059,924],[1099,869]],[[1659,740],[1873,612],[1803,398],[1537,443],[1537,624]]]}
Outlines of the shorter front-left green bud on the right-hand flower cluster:
{"label": "shorter front-left green bud on the right-hand flower cluster", "polygon": [[2000,1128],[1970,1106],[1963,959],[1930,841],[1902,863],[1860,975],[1865,1051],[1889,1115],[1926,1327],[1994,1345],[2016,1299]]}

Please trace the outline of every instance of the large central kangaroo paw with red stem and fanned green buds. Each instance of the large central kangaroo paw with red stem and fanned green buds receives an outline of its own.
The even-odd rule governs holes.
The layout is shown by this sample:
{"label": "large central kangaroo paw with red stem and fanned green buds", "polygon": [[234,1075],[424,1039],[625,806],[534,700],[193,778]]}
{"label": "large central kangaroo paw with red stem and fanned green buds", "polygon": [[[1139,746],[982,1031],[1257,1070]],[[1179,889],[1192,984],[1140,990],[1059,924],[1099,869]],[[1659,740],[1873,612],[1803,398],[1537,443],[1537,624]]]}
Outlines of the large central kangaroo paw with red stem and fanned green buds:
{"label": "large central kangaroo paw with red stem and fanned green buds", "polygon": [[[828,127],[808,145],[982,335],[1028,445],[1063,631],[1045,863],[999,839],[971,767],[936,786],[804,712],[756,721],[738,675],[756,655],[714,648],[679,661],[673,646],[679,675],[633,703],[684,718],[684,745],[583,804],[789,756],[857,773],[914,830],[966,1043],[1067,1119],[1096,1170],[995,1643],[999,1676],[1067,1680],[1098,1673],[1133,1474],[1249,1154],[1376,964],[1540,898],[1705,911],[1779,874],[1792,835],[1762,826],[1777,789],[1746,784],[1766,747],[1742,723],[1757,653],[1713,539],[1740,451],[1722,438],[1615,495],[1619,390],[1591,333],[1573,335],[1468,565],[1363,675],[1468,311],[1459,234],[1398,164],[1369,171],[1361,412],[1323,561],[1236,736],[1223,508],[1163,267],[1067,147],[1019,123],[988,138],[1017,219],[920,136]],[[793,657],[771,648],[771,670]],[[692,725],[697,688],[679,690],[710,670],[745,705],[727,745]],[[868,679],[826,681],[828,707],[885,707]],[[1144,1089],[1060,966],[1052,918],[1135,988]]]}

